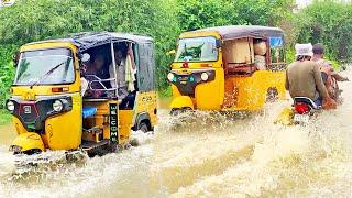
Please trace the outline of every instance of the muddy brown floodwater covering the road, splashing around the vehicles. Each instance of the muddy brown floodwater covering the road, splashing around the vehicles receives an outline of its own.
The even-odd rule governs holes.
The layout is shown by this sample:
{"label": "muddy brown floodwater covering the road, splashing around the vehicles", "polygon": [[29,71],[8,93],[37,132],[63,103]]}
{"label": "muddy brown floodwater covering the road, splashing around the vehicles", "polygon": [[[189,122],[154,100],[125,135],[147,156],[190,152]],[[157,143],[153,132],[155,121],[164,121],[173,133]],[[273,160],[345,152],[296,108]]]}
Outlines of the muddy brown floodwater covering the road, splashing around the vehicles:
{"label": "muddy brown floodwater covering the road, splashing around the vehicles", "polygon": [[344,102],[308,127],[273,124],[288,100],[234,120],[161,110],[139,147],[29,175],[13,174],[13,129],[0,127],[0,197],[351,197],[352,82],[340,87]]}

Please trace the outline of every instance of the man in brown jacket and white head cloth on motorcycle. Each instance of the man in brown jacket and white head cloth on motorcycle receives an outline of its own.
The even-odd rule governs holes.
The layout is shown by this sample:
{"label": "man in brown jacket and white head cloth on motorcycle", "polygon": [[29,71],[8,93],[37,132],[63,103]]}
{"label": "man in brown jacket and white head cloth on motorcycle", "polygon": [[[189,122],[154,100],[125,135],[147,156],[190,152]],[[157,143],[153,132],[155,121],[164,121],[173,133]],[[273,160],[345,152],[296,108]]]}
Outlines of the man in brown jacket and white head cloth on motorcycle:
{"label": "man in brown jacket and white head cloth on motorcycle", "polygon": [[[319,65],[311,61],[312,45],[296,44],[296,61],[286,69],[286,90],[293,98],[307,97],[329,109],[336,108],[336,102],[329,97],[322,81]],[[324,105],[323,105],[324,102]]]}

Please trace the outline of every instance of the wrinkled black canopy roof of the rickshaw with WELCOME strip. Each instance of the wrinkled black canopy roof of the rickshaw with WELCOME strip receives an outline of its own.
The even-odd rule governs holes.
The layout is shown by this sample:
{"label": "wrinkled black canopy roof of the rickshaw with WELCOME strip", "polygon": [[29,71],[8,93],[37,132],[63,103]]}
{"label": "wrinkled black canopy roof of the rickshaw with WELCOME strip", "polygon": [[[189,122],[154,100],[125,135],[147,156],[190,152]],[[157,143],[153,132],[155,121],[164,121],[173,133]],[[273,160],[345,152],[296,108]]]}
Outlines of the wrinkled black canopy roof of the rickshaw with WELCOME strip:
{"label": "wrinkled black canopy roof of the rickshaw with WELCOME strip", "polygon": [[[87,51],[91,47],[100,46],[111,42],[129,41],[133,43],[152,43],[153,38],[144,35],[135,35],[128,33],[114,32],[84,32],[73,34],[70,37],[58,40],[46,40],[35,43],[46,42],[70,42],[78,47],[80,52]],[[33,43],[30,43],[33,44]]]}

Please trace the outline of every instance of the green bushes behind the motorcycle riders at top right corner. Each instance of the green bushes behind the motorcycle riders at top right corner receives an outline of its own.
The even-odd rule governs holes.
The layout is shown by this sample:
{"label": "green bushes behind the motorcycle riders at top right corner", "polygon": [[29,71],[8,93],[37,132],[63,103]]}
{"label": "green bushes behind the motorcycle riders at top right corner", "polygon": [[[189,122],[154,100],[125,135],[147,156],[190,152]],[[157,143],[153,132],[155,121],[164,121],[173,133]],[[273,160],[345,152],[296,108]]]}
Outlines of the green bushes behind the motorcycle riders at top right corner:
{"label": "green bushes behind the motorcycle riders at top right corner", "polygon": [[305,23],[298,35],[300,43],[322,43],[330,59],[351,61],[352,6],[336,1],[315,1],[300,14]]}

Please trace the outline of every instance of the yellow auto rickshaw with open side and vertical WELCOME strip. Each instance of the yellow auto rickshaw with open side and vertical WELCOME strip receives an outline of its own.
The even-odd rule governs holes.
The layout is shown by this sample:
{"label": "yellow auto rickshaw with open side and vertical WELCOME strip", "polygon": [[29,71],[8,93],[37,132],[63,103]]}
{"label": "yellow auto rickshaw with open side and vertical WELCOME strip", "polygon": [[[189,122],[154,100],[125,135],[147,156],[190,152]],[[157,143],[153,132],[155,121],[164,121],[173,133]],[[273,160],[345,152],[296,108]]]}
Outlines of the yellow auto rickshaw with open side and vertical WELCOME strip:
{"label": "yellow auto rickshaw with open side and vertical WELCOME strip", "polygon": [[131,130],[153,131],[153,50],[148,36],[109,32],[23,45],[7,101],[19,134],[10,150],[96,155],[128,145]]}

